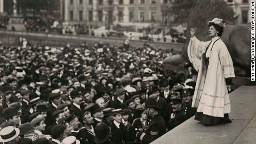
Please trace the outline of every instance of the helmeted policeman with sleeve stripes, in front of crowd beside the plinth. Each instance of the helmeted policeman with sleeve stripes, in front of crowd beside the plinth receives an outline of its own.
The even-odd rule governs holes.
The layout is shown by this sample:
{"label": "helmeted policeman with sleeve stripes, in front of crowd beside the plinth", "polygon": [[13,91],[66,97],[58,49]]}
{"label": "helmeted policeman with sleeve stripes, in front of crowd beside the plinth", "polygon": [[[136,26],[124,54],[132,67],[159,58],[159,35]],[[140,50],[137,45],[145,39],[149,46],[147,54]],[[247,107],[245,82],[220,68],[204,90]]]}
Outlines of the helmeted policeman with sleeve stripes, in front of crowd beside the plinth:
{"label": "helmeted policeman with sleeve stripes, in front of crowd beside the plinth", "polygon": [[137,133],[137,139],[140,140],[141,143],[150,143],[164,135],[165,121],[157,111],[157,109],[160,107],[157,105],[155,98],[147,98],[145,108],[147,117],[150,119],[150,121],[144,132]]}

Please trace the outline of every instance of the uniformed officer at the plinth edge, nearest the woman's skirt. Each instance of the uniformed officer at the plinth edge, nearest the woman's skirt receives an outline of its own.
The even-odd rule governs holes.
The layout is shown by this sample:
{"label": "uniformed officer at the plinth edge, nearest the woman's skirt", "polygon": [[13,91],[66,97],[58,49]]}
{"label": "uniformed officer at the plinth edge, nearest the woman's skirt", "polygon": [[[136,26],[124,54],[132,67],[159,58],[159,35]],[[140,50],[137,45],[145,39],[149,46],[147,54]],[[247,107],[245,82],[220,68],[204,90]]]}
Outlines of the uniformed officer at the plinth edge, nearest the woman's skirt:
{"label": "uniformed officer at the plinth edge, nearest the woman's skirt", "polygon": [[189,119],[190,117],[193,117],[195,115],[196,112],[196,108],[195,107],[191,107],[192,102],[191,102],[191,95],[188,89],[184,89],[182,91],[182,101],[184,103],[183,105],[183,111],[186,115],[186,117]]}

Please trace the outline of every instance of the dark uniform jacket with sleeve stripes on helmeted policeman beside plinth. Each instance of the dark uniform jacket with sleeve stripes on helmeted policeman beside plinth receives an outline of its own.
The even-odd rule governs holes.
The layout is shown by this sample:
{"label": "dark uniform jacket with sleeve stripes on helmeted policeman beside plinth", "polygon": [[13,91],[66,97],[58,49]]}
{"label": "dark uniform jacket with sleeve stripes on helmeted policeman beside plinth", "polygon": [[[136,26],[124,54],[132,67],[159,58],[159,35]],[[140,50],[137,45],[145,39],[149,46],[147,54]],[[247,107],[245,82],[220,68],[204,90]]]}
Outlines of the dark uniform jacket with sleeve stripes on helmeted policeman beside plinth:
{"label": "dark uniform jacket with sleeve stripes on helmeted policeman beside plinth", "polygon": [[[157,114],[151,118],[144,131],[145,136],[142,138],[141,143],[150,143],[165,134],[165,122],[161,115]],[[140,136],[140,135],[139,135]]]}

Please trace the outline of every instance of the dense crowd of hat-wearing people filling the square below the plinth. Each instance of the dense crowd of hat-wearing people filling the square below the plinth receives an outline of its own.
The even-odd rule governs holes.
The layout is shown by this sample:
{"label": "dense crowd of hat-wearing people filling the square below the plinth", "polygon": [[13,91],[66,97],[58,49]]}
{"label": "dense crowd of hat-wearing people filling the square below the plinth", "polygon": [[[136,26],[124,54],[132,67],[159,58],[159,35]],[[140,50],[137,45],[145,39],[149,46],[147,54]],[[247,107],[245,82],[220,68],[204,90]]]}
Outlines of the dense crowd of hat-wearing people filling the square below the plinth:
{"label": "dense crowd of hat-wearing people filling the square below the plinth", "polygon": [[[27,43],[26,43],[27,44]],[[4,143],[150,143],[195,114],[196,74],[150,47],[1,47]]]}

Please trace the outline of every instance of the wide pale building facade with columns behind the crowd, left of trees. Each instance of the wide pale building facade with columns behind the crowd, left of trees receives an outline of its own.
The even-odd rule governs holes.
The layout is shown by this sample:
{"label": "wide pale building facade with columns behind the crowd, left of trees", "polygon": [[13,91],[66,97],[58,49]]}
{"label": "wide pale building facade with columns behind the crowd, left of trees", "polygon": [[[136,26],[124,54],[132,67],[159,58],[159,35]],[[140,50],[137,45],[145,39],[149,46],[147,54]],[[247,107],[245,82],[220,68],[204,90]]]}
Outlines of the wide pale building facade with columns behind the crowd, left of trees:
{"label": "wide pale building facade with columns behind the crowd, left of trees", "polygon": [[64,0],[65,21],[104,25],[161,23],[168,0]]}

